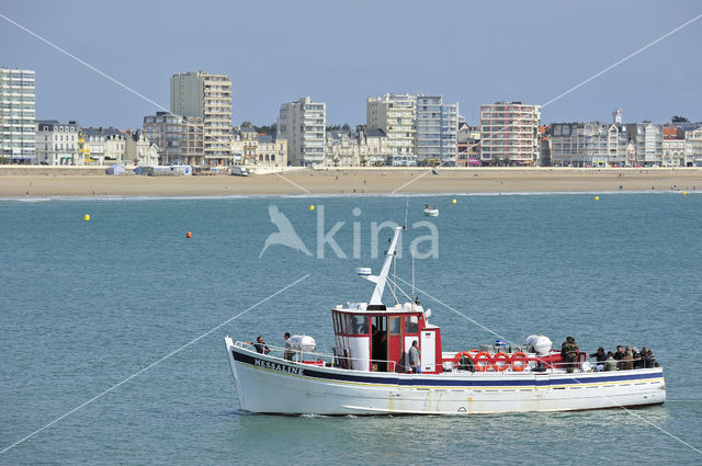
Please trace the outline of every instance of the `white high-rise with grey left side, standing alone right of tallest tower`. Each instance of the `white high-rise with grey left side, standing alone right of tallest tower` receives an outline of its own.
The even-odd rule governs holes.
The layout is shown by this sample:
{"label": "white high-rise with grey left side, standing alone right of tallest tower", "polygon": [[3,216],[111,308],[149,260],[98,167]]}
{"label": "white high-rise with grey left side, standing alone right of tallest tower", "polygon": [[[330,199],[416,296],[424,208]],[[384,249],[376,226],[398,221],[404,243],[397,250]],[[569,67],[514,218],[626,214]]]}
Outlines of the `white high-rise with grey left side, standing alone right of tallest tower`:
{"label": "white high-rise with grey left side, standing alone right of tallest tower", "polygon": [[287,140],[287,161],[299,166],[324,166],[327,104],[309,96],[281,105],[278,133]]}

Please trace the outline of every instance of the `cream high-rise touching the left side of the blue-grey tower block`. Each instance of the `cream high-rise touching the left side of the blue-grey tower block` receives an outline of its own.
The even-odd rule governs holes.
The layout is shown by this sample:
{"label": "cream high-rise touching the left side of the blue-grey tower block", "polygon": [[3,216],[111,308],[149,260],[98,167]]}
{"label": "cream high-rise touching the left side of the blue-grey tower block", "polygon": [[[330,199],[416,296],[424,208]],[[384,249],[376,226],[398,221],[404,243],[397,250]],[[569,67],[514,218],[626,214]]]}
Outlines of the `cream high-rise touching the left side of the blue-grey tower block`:
{"label": "cream high-rise touching the left side of the blue-grey tower block", "polygon": [[365,124],[367,129],[381,129],[387,136],[387,164],[417,164],[415,150],[415,118],[417,98],[411,94],[385,94],[367,98]]}

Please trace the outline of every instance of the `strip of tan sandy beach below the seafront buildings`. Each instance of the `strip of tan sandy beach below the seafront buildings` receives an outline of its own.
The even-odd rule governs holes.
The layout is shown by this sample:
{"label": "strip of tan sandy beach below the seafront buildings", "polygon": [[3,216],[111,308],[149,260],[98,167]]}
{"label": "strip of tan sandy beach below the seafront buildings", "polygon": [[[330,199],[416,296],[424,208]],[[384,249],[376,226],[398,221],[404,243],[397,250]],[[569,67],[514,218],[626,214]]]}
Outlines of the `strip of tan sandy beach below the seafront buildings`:
{"label": "strip of tan sandy beach below the seafront buildings", "polygon": [[[702,190],[702,168],[328,169],[231,177],[0,174],[0,197],[214,196],[236,194],[534,193]],[[3,173],[3,171],[0,171]],[[16,173],[16,171],[14,171]]]}

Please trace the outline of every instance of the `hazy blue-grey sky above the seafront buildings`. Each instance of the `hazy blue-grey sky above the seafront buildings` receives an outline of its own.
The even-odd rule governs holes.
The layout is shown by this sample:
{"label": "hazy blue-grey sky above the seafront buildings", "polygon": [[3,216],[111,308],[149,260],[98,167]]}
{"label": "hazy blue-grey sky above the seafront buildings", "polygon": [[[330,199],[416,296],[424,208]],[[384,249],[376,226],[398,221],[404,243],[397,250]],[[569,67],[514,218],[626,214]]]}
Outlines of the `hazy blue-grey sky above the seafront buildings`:
{"label": "hazy blue-grey sky above the seafront buildings", "polygon": [[[110,5],[107,5],[110,4]],[[702,13],[657,1],[3,0],[0,13],[169,107],[173,72],[227,73],[234,123],[327,102],[365,123],[365,98],[442,94],[471,124],[497,100],[543,104]],[[548,105],[542,122],[702,120],[702,19]],[[0,19],[0,65],[36,70],[38,118],[140,127],[158,109]]]}

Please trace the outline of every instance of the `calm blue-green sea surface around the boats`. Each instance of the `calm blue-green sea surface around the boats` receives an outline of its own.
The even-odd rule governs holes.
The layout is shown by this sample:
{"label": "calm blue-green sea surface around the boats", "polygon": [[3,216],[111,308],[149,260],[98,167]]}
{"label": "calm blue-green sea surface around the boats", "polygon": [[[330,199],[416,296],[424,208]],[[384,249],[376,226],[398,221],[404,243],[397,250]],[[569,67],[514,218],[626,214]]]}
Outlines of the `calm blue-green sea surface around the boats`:
{"label": "calm blue-green sea surface around the boats", "polygon": [[[456,198],[0,202],[0,450],[309,274],[0,455],[0,464],[700,464],[701,454],[646,421],[702,448],[702,195]],[[441,209],[431,219],[439,257],[415,263],[420,288],[512,341],[544,333],[559,345],[573,334],[590,351],[650,346],[666,370],[668,402],[635,416],[241,412],[223,337],[263,334],[280,344],[290,331],[330,349],[330,307],[367,300],[372,284],[354,268],[381,265],[371,258],[371,224],[403,223],[407,200],[405,252],[429,234],[412,228],[427,220],[423,204]],[[271,246],[259,258],[276,230],[270,204],[312,257]],[[325,234],[344,223],[333,239],[349,259],[329,246],[318,258],[322,211]],[[389,235],[380,235],[381,254]],[[399,261],[397,273],[411,280],[411,261]],[[446,350],[495,340],[420,298]]]}

